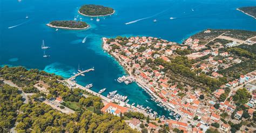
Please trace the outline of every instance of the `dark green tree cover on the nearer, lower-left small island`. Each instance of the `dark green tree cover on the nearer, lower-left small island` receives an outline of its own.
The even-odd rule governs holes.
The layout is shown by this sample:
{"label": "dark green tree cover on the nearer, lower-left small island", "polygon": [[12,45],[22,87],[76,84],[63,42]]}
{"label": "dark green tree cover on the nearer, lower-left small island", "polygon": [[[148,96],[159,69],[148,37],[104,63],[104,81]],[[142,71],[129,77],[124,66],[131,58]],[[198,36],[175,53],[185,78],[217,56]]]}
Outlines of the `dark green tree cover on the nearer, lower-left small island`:
{"label": "dark green tree cover on the nearer, lower-left small island", "polygon": [[88,26],[83,21],[73,21],[73,20],[51,21],[50,24],[53,26],[68,27],[68,28],[85,28]]}

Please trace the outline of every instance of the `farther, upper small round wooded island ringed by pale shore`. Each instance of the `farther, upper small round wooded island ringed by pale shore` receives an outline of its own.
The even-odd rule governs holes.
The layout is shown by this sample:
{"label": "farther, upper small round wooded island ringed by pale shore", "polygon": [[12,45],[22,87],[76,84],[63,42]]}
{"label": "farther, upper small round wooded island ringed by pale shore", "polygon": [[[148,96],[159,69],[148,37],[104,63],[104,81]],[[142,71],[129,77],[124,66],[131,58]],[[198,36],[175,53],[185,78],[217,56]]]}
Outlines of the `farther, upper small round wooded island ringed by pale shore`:
{"label": "farther, upper small round wooded island ringed by pale shore", "polygon": [[102,5],[83,5],[78,12],[84,16],[98,17],[111,15],[114,9]]}

